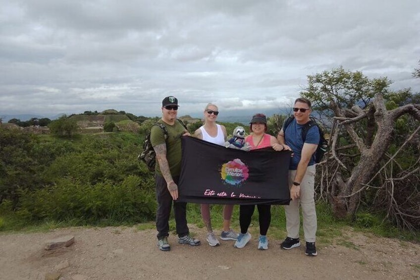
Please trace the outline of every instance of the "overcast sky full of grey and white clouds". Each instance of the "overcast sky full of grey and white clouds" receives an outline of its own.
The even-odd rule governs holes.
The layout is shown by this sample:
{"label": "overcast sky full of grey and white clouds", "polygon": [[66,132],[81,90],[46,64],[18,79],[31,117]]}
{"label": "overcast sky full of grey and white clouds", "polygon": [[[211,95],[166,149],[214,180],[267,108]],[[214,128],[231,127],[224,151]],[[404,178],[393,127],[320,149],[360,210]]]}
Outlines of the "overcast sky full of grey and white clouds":
{"label": "overcast sky full of grey and white clouds", "polygon": [[0,0],[0,114],[292,104],[307,75],[420,91],[419,0]]}

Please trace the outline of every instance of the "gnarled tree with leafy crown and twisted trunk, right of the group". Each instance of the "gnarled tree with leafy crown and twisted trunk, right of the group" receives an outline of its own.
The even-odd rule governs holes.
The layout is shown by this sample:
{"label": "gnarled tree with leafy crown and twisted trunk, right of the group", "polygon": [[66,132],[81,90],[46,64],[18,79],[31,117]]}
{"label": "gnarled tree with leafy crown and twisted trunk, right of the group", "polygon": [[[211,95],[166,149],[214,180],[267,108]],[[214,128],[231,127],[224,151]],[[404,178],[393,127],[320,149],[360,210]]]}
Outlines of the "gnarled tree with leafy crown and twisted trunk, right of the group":
{"label": "gnarled tree with leafy crown and twisted trunk, right of the group", "polygon": [[419,132],[420,104],[387,109],[384,97],[398,100],[404,96],[403,92],[390,94],[390,84],[387,78],[369,79],[360,71],[339,67],[308,76],[308,87],[301,92],[313,101],[314,109],[329,117],[331,151],[327,161],[333,171],[322,183],[337,217],[355,216],[362,193],[384,168],[397,120],[411,116],[417,125],[412,135]]}

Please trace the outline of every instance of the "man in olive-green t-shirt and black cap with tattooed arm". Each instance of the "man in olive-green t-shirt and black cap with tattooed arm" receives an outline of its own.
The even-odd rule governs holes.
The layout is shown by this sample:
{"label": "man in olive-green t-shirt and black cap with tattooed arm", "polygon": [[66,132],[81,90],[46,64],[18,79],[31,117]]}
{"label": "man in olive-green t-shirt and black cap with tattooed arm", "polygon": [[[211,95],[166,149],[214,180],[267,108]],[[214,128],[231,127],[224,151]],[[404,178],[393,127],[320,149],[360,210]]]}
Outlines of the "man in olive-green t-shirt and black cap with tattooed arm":
{"label": "man in olive-green t-shirt and black cap with tattooed arm", "polygon": [[157,122],[166,126],[167,138],[163,129],[152,126],[150,141],[156,152],[156,228],[157,245],[162,251],[169,251],[169,215],[173,201],[175,213],[176,233],[178,243],[191,246],[200,245],[200,240],[190,236],[187,226],[187,203],[177,202],[178,180],[181,173],[181,137],[190,133],[176,119],[178,99],[173,96],[165,97],[162,101],[162,118]]}

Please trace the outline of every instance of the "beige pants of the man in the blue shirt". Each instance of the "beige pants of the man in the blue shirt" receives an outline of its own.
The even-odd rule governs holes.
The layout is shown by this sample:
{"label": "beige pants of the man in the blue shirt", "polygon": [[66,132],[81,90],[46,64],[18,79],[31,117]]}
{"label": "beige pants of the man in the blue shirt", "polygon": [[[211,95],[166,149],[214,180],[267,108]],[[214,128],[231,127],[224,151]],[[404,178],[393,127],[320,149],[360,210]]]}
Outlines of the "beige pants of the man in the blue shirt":
{"label": "beige pants of the man in the blue shirt", "polygon": [[[289,186],[292,186],[296,170],[289,170]],[[299,238],[300,215],[299,206],[302,208],[303,230],[306,242],[315,242],[316,234],[316,211],[315,211],[315,165],[306,169],[301,182],[299,199],[290,201],[285,205],[287,236]]]}

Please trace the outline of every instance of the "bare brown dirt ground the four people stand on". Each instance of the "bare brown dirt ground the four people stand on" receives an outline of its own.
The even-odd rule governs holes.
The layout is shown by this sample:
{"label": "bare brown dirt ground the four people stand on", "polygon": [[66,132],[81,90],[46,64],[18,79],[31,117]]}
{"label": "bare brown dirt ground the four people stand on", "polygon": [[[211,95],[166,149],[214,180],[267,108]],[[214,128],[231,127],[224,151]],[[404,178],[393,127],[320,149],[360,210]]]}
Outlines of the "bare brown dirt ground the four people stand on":
{"label": "bare brown dirt ground the four people stand on", "polygon": [[[178,244],[171,235],[169,252],[157,249],[155,230],[136,227],[1,234],[0,279],[420,279],[420,244],[348,230],[331,244],[318,245],[317,257],[308,257],[304,246],[286,251],[280,249],[281,240],[272,238],[268,250],[258,250],[257,236],[242,249],[221,240],[220,246],[210,247],[204,229],[190,225],[190,230],[201,246]],[[74,236],[75,242],[44,249],[64,235]]]}

